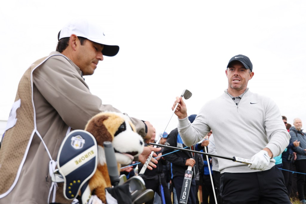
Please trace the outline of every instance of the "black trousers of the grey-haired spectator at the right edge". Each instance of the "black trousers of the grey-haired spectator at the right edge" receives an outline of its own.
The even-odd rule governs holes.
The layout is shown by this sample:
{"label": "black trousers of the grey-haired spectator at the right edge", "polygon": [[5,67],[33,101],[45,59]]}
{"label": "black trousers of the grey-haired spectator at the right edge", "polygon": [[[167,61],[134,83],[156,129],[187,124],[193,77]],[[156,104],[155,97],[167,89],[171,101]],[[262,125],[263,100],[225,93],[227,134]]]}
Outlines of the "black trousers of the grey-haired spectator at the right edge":
{"label": "black trousers of the grey-haired spectator at the right edge", "polygon": [[304,200],[306,196],[306,182],[305,182],[305,173],[306,173],[306,160],[296,160],[294,162],[297,172],[303,174],[297,174],[297,192],[299,193],[299,199]]}

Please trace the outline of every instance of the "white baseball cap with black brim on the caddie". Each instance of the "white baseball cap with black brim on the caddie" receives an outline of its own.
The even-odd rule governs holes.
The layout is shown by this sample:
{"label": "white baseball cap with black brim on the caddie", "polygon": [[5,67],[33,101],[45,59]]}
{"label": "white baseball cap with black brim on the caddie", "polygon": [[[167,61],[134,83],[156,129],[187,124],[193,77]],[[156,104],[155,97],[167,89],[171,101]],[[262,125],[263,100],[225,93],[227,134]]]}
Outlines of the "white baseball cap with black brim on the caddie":
{"label": "white baseball cap with black brim on the caddie", "polygon": [[95,43],[103,44],[103,55],[115,56],[119,52],[119,46],[113,45],[109,37],[106,37],[102,28],[91,24],[85,19],[74,19],[66,24],[59,33],[58,40],[75,34],[87,38]]}

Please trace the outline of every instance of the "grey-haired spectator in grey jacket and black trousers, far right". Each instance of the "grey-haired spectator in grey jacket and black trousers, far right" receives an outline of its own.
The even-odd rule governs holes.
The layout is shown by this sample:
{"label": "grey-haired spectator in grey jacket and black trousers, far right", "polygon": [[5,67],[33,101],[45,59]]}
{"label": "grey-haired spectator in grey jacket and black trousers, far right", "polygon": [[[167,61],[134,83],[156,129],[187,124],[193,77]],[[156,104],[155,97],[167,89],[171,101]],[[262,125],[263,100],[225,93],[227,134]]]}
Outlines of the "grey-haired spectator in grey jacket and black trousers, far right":
{"label": "grey-haired spectator in grey jacket and black trousers, far right", "polygon": [[300,199],[300,203],[306,203],[306,182],[305,182],[305,173],[306,173],[306,135],[302,131],[302,121],[299,118],[293,120],[293,127],[290,128],[289,132],[291,138],[290,142],[299,141],[300,145],[293,147],[293,150],[297,153],[297,159],[294,164],[297,168],[297,192]]}

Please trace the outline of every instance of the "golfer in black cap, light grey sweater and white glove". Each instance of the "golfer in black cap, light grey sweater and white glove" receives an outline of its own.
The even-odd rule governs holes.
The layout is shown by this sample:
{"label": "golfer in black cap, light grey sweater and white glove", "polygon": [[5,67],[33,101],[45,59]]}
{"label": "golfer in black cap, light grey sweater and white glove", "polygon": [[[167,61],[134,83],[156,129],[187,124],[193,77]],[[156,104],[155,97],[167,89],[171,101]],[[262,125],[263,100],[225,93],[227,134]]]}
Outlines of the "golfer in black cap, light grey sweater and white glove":
{"label": "golfer in black cap, light grey sweater and white glove", "polygon": [[225,71],[228,88],[208,101],[192,124],[182,97],[177,97],[175,114],[178,132],[185,145],[199,142],[214,133],[218,154],[251,158],[252,165],[218,159],[220,194],[223,203],[290,203],[282,172],[275,160],[289,144],[280,111],[270,98],[252,93],[248,81],[254,76],[253,65],[245,55],[230,59]]}

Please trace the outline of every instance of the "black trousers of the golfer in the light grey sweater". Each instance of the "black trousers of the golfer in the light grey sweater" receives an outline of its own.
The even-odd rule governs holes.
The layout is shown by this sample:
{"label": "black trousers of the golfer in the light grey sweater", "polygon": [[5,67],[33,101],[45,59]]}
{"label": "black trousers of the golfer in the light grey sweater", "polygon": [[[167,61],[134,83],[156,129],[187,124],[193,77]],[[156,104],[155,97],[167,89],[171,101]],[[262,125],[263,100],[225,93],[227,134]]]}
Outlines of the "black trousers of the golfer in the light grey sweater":
{"label": "black trousers of the golfer in the light grey sweater", "polygon": [[220,194],[223,204],[290,204],[284,176],[275,166],[259,172],[222,173]]}

